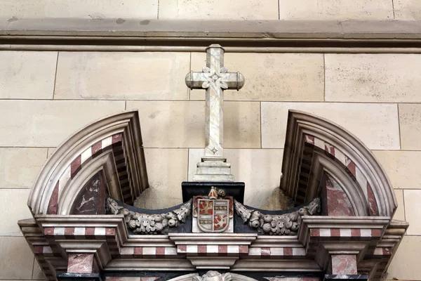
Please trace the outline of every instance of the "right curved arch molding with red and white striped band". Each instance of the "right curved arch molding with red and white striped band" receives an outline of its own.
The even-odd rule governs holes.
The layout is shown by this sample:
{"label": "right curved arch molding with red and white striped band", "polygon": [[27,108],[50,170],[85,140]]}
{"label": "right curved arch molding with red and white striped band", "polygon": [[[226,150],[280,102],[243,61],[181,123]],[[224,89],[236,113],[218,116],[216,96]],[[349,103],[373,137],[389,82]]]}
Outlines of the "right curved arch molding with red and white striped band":
{"label": "right curved arch molding with red and white striped band", "polygon": [[[355,216],[392,217],[397,207],[392,185],[370,150],[341,126],[309,113],[288,112],[282,174],[281,188],[297,205],[311,201],[322,185],[338,194],[339,185]],[[327,214],[340,215],[329,204]]]}

